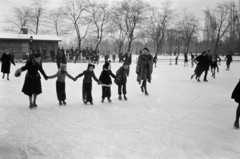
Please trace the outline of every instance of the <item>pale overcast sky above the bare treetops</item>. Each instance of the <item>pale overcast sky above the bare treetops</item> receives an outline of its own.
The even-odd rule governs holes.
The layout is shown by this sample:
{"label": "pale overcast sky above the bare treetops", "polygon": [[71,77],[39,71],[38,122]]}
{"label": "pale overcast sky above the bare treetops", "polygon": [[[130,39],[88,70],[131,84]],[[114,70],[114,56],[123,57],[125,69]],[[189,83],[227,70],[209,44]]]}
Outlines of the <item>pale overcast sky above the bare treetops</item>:
{"label": "pale overcast sky above the bare treetops", "polygon": [[[100,0],[99,0],[100,1]],[[104,0],[106,2],[113,2],[116,0]],[[162,0],[145,0],[154,3],[161,3]],[[203,10],[207,7],[214,7],[219,2],[236,2],[239,7],[240,0],[172,0],[173,9],[177,12],[180,12],[183,8],[188,9],[190,12],[193,12],[196,17],[203,19]],[[58,7],[64,2],[64,0],[49,0],[48,7],[54,8]],[[3,19],[4,15],[8,17],[12,16],[12,8],[17,6],[28,6],[31,3],[31,0],[0,0],[0,33],[2,32],[1,28],[4,25]],[[239,7],[240,8],[240,7]],[[203,22],[202,22],[203,23]]]}

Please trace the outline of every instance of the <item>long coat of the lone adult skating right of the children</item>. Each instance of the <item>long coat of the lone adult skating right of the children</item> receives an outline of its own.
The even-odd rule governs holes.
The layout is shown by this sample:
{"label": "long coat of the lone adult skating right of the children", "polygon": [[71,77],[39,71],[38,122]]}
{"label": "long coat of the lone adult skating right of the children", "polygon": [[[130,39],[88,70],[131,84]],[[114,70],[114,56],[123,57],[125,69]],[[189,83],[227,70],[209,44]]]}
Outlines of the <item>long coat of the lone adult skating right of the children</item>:
{"label": "long coat of the lone adult skating right of the children", "polygon": [[139,84],[141,83],[141,80],[148,80],[149,83],[151,83],[151,75],[153,71],[153,57],[152,55],[140,55],[138,58],[136,73],[137,81]]}

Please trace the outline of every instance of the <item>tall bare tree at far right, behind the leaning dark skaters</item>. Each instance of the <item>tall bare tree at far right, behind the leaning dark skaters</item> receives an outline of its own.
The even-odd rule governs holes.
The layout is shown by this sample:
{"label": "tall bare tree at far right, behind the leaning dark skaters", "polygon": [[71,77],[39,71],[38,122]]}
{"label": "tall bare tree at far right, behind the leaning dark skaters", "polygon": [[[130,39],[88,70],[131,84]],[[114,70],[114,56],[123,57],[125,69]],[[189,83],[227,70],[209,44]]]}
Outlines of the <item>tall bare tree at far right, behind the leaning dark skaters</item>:
{"label": "tall bare tree at far right, behind the leaning dark skaters", "polygon": [[[219,3],[214,9],[205,10],[206,17],[210,20],[213,25],[211,34],[213,34],[214,44],[214,54],[218,51],[219,41],[228,32],[232,21],[229,20],[230,16],[230,3]],[[237,16],[233,18],[236,19]]]}

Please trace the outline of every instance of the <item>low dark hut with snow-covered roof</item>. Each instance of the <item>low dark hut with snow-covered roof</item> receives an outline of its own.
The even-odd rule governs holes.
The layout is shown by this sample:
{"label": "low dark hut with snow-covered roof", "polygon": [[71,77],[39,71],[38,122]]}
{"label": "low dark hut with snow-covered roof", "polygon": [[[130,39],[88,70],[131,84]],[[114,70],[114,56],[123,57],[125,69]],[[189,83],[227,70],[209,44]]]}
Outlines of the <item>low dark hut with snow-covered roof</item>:
{"label": "low dark hut with snow-covered roof", "polygon": [[32,47],[34,50],[45,48],[49,57],[51,49],[57,52],[60,41],[62,40],[56,35],[0,34],[0,55],[8,48],[15,58],[22,59]]}

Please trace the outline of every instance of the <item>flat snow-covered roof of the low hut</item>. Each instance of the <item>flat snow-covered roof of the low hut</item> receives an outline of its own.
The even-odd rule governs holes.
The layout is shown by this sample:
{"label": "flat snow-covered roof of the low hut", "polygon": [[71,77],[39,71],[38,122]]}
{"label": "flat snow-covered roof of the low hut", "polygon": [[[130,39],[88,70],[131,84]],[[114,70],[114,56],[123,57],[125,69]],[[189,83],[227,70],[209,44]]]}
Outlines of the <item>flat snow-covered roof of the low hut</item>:
{"label": "flat snow-covered roof of the low hut", "polygon": [[56,35],[31,35],[31,34],[0,34],[0,39],[4,40],[30,40],[32,36],[33,41],[62,41]]}

